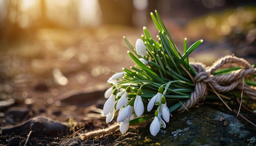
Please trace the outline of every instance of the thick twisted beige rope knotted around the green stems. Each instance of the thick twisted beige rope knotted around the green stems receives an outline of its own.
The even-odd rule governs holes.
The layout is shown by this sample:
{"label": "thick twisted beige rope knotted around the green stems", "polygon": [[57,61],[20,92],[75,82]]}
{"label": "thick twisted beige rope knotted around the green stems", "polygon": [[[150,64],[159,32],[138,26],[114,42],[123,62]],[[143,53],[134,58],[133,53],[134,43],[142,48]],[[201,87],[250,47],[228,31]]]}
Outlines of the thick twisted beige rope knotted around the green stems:
{"label": "thick twisted beige rope knotted around the green stems", "polygon": [[[213,75],[216,70],[222,69],[223,66],[231,65],[240,66],[242,69],[228,74]],[[234,89],[243,90],[250,98],[256,100],[256,89],[247,84],[243,86],[243,79],[256,74],[256,69],[251,68],[250,64],[243,58],[227,55],[207,68],[202,63],[193,63],[191,66],[197,73],[194,77],[195,91],[191,93],[191,98],[178,111],[185,111],[186,108],[191,108],[196,103],[204,101],[208,88],[216,92],[228,92]]]}

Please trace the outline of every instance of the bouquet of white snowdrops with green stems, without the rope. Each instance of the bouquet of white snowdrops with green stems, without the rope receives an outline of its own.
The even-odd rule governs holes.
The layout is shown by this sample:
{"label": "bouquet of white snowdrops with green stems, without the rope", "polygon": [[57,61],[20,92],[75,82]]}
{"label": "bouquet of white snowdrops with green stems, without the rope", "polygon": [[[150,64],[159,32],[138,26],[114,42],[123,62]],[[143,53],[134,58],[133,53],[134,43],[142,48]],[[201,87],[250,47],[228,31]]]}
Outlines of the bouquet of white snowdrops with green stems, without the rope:
{"label": "bouquet of white snowdrops with green stems, without the rope", "polygon": [[[197,71],[189,64],[188,55],[202,40],[188,49],[185,38],[184,54],[181,55],[157,11],[155,14],[156,17],[153,13],[151,16],[159,30],[158,40],[152,39],[146,27],[143,28],[144,35],[137,40],[135,49],[124,37],[133,52],[128,51],[128,55],[136,65],[130,67],[131,70],[123,68],[124,72],[116,73],[108,80],[112,86],[105,93],[108,100],[103,107],[103,114],[108,123],[119,110],[117,122],[120,122],[122,134],[126,133],[130,124],[154,117],[150,133],[157,135],[161,127],[166,128],[170,113],[184,106],[195,91],[194,77]],[[223,75],[239,69],[241,68],[222,69],[215,71],[213,75]],[[255,73],[252,80],[255,81]],[[255,85],[249,81],[247,84]]]}

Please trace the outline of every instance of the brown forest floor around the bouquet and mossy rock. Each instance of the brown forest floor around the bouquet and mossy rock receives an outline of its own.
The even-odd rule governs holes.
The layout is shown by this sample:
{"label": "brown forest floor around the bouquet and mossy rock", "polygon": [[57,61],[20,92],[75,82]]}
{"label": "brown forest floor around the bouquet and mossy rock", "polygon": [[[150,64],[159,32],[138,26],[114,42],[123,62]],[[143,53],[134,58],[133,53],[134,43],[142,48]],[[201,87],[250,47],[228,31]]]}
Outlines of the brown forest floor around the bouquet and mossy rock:
{"label": "brown forest floor around the bouquet and mossy rock", "polygon": [[[228,17],[231,13],[234,10],[222,15]],[[232,27],[225,35],[202,26],[208,15],[185,26],[165,22],[179,48],[185,37],[190,44],[204,39],[191,54],[191,60],[211,65],[221,56],[234,53],[255,64],[256,12],[248,8],[235,14],[240,13],[252,15],[252,19],[243,21],[240,31]],[[152,36],[157,35],[153,24],[147,28]],[[210,31],[211,35],[203,35],[202,31]],[[206,100],[184,113],[173,112],[166,129],[161,128],[155,137],[149,131],[151,119],[130,126],[124,135],[116,129],[82,140],[81,133],[115,123],[116,118],[106,124],[102,117],[104,92],[109,87],[106,80],[122,67],[133,65],[122,35],[135,46],[141,33],[142,29],[121,26],[72,31],[40,29],[33,36],[25,34],[24,41],[2,43],[6,49],[0,50],[0,146],[23,146],[26,141],[28,146],[256,145],[256,127],[236,118],[236,113],[228,111],[219,100]],[[237,97],[231,96],[227,102],[238,111]],[[252,113],[241,108],[241,115],[256,123],[256,102],[245,99],[243,104]]]}

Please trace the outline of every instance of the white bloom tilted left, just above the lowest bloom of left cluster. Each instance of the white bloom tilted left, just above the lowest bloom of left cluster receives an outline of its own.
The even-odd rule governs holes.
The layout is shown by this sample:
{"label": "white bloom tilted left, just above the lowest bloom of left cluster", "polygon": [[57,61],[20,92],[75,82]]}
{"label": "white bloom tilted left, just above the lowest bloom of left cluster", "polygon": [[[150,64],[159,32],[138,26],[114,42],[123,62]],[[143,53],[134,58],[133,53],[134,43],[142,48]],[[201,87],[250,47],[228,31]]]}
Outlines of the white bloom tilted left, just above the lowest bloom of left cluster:
{"label": "white bloom tilted left, just above the lowest bloom of left cluster", "polygon": [[119,112],[117,122],[123,122],[124,124],[129,122],[130,118],[132,117],[132,108],[132,106],[128,105],[121,112]]}

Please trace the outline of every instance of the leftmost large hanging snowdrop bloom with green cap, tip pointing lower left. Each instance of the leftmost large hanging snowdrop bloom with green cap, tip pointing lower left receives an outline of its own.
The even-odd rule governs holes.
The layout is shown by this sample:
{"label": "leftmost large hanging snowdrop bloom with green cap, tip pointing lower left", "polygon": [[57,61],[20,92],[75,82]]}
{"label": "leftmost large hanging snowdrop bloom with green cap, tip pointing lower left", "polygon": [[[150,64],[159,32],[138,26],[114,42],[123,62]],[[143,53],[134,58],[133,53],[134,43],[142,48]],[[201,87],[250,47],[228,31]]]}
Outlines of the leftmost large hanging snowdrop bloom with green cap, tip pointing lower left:
{"label": "leftmost large hanging snowdrop bloom with green cap, tip pointing lower left", "polygon": [[103,106],[103,115],[108,115],[115,108],[115,96],[117,95],[117,89],[112,92],[112,95],[108,98]]}

